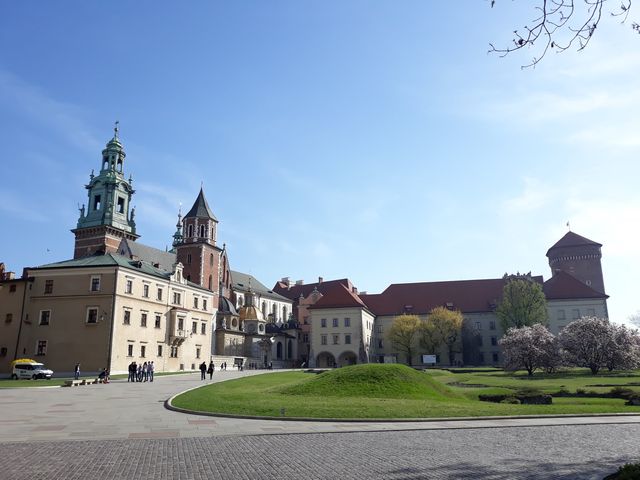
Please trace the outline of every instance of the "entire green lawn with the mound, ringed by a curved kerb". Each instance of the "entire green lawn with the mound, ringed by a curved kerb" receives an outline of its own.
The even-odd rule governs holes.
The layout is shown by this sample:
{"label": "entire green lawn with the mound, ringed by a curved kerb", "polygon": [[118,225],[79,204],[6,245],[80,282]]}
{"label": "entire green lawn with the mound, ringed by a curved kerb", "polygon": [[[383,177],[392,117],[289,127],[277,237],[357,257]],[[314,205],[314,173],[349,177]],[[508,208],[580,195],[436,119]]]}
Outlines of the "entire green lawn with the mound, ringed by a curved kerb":
{"label": "entire green lawn with the mound, ringed by a curved kerb", "polygon": [[[495,415],[640,413],[622,399],[554,398],[552,405],[480,402],[478,394],[533,387],[609,391],[593,384],[640,383],[638,372],[627,376],[582,371],[534,376],[496,371],[453,374],[418,372],[402,365],[358,365],[323,374],[283,372],[207,385],[186,392],[173,405],[190,410],[236,415],[310,418],[433,418]],[[467,387],[464,385],[473,385]],[[631,388],[640,391],[640,386]],[[284,410],[283,410],[284,409]]]}

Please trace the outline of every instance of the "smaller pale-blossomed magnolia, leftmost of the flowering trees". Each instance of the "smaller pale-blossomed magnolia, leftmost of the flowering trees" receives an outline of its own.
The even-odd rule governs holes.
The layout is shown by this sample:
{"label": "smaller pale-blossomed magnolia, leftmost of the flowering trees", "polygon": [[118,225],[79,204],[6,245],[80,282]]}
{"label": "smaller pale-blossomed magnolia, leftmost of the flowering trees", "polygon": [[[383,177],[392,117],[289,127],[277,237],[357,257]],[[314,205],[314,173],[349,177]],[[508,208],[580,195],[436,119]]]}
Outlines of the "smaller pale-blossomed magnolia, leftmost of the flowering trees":
{"label": "smaller pale-blossomed magnolia, leftmost of the flowering trees", "polygon": [[507,370],[524,368],[529,375],[538,368],[552,369],[558,364],[556,338],[541,324],[510,328],[500,340]]}

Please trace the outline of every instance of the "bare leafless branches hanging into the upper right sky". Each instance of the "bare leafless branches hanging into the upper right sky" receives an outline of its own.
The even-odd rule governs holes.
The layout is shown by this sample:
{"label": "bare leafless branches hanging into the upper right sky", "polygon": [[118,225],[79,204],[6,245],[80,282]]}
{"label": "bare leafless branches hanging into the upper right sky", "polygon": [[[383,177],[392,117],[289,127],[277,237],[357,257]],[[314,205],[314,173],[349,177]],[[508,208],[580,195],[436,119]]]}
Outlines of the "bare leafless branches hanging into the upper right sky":
{"label": "bare leafless branches hanging into the upper right sky", "polygon": [[[603,15],[617,17],[624,23],[631,9],[631,0],[620,1],[619,6],[605,8],[607,0],[536,0],[536,16],[520,30],[513,32],[513,45],[496,47],[489,44],[489,53],[504,57],[525,47],[536,47],[537,54],[522,68],[535,66],[549,51],[564,52],[576,46],[584,49],[598,27]],[[494,7],[496,0],[491,0]],[[640,25],[632,23],[632,28],[640,33]]]}

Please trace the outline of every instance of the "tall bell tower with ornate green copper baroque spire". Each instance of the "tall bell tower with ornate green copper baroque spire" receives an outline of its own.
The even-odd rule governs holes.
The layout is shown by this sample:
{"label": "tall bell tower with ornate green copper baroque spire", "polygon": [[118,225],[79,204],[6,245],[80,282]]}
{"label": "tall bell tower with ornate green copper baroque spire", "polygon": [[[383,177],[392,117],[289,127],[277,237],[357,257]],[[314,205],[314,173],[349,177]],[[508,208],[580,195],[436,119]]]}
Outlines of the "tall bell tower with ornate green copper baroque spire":
{"label": "tall bell tower with ornate green copper baroque spire", "polygon": [[135,241],[135,208],[131,207],[134,190],[132,178],[124,174],[126,154],[118,137],[118,122],[113,138],[102,150],[100,173],[89,175],[85,185],[88,193],[87,206],[80,208],[80,218],[75,229],[73,258],[86,257],[97,253],[117,252],[122,238]]}

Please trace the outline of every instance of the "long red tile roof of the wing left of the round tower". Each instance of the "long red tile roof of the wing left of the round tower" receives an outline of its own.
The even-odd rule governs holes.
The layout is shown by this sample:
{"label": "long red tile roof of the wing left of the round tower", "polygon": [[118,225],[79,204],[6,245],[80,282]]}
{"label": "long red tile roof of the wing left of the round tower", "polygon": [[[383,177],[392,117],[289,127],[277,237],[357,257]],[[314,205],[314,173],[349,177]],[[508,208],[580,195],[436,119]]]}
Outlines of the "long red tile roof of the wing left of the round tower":
{"label": "long red tile roof of the wing left of the round tower", "polygon": [[[541,276],[533,280],[542,283]],[[425,314],[448,306],[463,313],[492,312],[502,298],[505,279],[395,283],[375,295],[360,295],[375,315]]]}

